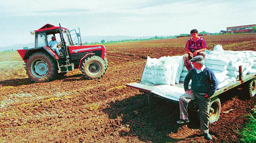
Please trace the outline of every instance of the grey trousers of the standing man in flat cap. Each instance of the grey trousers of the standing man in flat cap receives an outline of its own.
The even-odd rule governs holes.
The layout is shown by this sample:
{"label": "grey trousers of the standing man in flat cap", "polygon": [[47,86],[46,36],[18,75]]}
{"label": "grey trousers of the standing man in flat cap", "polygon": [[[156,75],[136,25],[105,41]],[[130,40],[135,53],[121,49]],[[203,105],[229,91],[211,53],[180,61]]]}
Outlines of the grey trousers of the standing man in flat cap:
{"label": "grey trousers of the standing man in flat cap", "polygon": [[199,108],[199,116],[200,116],[200,123],[201,127],[200,130],[203,133],[209,132],[209,105],[210,99],[203,97],[204,95],[198,94],[192,91],[193,94],[189,95],[187,93],[183,94],[180,97],[180,119],[189,119],[188,115],[188,104],[189,101],[195,99],[198,104]]}

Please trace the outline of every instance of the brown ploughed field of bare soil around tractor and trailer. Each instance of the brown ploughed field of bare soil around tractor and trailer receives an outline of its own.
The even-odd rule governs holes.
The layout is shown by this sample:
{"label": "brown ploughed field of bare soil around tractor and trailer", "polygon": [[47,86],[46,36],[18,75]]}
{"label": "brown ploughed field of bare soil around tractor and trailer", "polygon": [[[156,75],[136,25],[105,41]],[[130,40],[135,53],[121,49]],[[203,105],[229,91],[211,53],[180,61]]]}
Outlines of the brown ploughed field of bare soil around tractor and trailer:
{"label": "brown ploughed field of bare soil around tractor and trailer", "polygon": [[[256,51],[256,34],[204,36],[208,49]],[[179,106],[161,101],[148,106],[147,96],[125,84],[141,79],[146,57],[185,54],[188,38],[105,45],[109,68],[98,80],[81,71],[46,83],[32,83],[17,52],[0,53],[0,142],[29,143],[236,143],[243,117],[255,108],[256,98],[242,100],[242,91],[221,96],[219,120],[210,124],[213,141],[199,131],[199,120],[177,125]],[[238,94],[240,94],[238,96]]]}

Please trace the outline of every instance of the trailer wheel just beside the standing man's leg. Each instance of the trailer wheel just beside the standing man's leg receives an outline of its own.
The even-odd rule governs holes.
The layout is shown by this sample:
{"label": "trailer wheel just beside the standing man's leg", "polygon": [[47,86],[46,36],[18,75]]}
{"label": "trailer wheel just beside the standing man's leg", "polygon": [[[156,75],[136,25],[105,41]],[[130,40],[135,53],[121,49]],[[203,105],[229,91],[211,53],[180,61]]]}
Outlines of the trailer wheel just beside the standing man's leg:
{"label": "trailer wheel just beside the standing man's leg", "polygon": [[218,121],[218,119],[219,119],[220,108],[221,108],[219,98],[215,99],[213,101],[210,101],[210,106],[209,107],[210,107],[210,109],[209,109],[209,122],[211,124],[215,121]]}

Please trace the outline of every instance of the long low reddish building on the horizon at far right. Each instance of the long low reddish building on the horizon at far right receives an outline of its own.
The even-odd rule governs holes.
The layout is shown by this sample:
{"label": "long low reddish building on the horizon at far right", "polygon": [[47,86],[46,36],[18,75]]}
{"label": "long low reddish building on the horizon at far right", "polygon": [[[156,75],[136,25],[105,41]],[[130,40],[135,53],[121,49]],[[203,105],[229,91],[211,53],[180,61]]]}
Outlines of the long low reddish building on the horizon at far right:
{"label": "long low reddish building on the horizon at far right", "polygon": [[253,29],[252,29],[253,27],[256,27],[256,24],[227,27],[227,33],[253,32]]}

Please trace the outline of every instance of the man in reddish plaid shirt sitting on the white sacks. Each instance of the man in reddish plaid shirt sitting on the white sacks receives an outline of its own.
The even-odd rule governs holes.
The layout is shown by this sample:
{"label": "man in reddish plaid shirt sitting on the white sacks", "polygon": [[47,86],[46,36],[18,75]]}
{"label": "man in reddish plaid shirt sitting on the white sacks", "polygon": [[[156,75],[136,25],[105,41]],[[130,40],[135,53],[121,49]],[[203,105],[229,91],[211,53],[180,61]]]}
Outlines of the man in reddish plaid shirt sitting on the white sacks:
{"label": "man in reddish plaid shirt sitting on the white sacks", "polygon": [[203,58],[205,57],[205,53],[203,51],[206,50],[206,43],[205,40],[198,36],[198,31],[193,29],[190,31],[192,38],[187,41],[186,44],[186,52],[183,57],[184,64],[188,71],[192,68],[190,59],[192,59],[196,55],[202,55]]}

